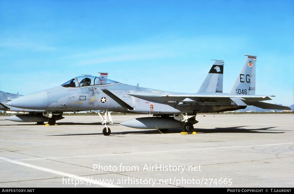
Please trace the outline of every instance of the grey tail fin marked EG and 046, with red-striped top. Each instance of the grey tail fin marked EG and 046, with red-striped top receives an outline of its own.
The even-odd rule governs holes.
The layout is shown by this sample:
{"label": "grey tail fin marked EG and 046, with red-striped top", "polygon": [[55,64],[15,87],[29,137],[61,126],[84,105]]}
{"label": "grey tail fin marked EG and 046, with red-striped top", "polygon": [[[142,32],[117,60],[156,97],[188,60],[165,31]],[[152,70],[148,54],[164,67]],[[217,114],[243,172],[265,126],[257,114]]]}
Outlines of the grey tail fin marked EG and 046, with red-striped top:
{"label": "grey tail fin marked EG and 046, with red-striped top", "polygon": [[255,95],[255,55],[248,55],[235,84],[230,91],[231,95]]}

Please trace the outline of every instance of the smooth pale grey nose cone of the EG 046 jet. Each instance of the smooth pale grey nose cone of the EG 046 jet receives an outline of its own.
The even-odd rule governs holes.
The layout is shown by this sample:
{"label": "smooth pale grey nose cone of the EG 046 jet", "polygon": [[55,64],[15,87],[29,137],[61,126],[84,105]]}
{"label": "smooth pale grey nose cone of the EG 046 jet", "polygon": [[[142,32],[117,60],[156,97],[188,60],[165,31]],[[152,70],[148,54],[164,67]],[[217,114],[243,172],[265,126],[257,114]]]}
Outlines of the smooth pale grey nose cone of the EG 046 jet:
{"label": "smooth pale grey nose cone of the EG 046 jet", "polygon": [[24,109],[44,110],[48,106],[48,95],[46,91],[36,92],[13,99],[7,102],[6,105]]}

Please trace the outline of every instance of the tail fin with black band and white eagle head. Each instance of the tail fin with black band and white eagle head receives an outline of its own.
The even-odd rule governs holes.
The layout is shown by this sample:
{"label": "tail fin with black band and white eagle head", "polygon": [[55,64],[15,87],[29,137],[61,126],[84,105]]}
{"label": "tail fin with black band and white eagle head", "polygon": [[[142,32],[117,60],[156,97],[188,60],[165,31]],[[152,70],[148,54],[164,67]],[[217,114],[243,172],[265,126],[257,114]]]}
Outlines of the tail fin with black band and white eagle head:
{"label": "tail fin with black band and white eagle head", "polygon": [[214,60],[197,93],[223,93],[223,60]]}

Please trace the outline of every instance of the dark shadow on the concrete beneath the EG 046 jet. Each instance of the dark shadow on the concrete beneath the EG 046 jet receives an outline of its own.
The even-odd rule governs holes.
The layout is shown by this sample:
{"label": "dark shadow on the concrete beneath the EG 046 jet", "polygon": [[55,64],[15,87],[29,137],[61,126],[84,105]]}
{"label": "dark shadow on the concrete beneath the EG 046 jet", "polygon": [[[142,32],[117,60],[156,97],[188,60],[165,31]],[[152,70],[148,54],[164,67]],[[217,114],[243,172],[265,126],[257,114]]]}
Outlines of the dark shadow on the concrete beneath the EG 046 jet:
{"label": "dark shadow on the concrete beneath the EG 046 jet", "polygon": [[[113,124],[112,124],[113,125]],[[108,125],[111,128],[111,125]],[[196,128],[194,131],[197,133],[269,133],[269,134],[276,134],[276,133],[285,133],[285,132],[277,132],[277,131],[288,131],[288,130],[268,130],[273,129],[275,127],[265,127],[265,128],[258,128],[258,129],[246,129],[247,126],[236,126],[236,127],[218,127],[214,129],[199,129]],[[172,134],[172,133],[181,133],[182,129],[169,129],[168,132],[163,134]],[[138,131],[122,131],[116,132],[111,131],[110,136],[112,135],[125,135],[125,134],[161,134],[160,131],[156,130],[138,130]],[[63,135],[49,135],[49,136],[79,136],[79,135],[102,135],[102,133],[83,133],[83,134],[63,134]]]}

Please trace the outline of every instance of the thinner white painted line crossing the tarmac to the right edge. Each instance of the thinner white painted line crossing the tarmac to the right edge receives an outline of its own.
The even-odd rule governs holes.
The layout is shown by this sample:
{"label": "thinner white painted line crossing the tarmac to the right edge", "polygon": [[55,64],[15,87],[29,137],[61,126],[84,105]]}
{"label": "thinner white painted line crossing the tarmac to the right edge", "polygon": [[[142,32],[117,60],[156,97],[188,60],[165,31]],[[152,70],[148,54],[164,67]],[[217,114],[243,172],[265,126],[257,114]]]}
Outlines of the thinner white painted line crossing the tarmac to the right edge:
{"label": "thinner white painted line crossing the tarmac to the right edge", "polygon": [[83,158],[83,157],[97,157],[97,156],[120,156],[120,155],[133,155],[133,154],[149,154],[149,153],[167,153],[167,152],[183,152],[183,151],[198,151],[198,150],[212,150],[212,149],[231,149],[231,148],[245,148],[245,147],[257,147],[257,146],[274,146],[274,145],[287,145],[291,143],[280,143],[280,144],[263,144],[263,145],[251,145],[251,146],[231,146],[231,147],[218,147],[218,148],[200,148],[200,149],[186,149],[186,150],[169,150],[169,151],[154,151],[154,152],[135,152],[135,153],[114,153],[114,154],[101,154],[101,155],[89,155],[89,156],[65,156],[65,157],[51,157],[51,158],[31,158],[31,159],[18,159],[18,160],[3,160],[6,161],[26,161],[26,160],[42,160],[42,159],[59,159],[59,158]]}

